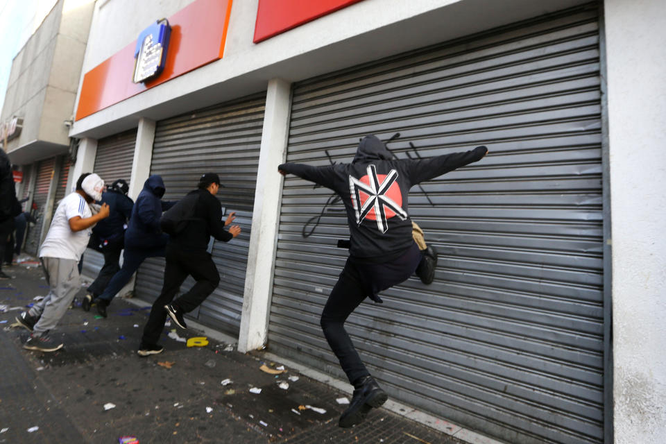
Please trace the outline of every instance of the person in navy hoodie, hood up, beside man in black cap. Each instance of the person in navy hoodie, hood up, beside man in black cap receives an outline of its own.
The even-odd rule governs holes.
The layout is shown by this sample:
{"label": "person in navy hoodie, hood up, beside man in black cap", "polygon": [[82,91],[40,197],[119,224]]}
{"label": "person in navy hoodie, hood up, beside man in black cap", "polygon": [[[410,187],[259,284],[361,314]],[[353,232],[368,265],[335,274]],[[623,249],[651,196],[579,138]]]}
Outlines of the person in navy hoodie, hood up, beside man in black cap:
{"label": "person in navy hoodie, hood up, beside man in black cap", "polygon": [[132,216],[125,232],[125,253],[123,266],[111,278],[103,293],[94,299],[97,311],[106,317],[106,308],[116,294],[128,283],[132,275],[148,257],[164,257],[169,235],[160,230],[162,212],[169,210],[176,202],[162,200],[164,192],[162,176],[153,174],[144,182],[132,209]]}

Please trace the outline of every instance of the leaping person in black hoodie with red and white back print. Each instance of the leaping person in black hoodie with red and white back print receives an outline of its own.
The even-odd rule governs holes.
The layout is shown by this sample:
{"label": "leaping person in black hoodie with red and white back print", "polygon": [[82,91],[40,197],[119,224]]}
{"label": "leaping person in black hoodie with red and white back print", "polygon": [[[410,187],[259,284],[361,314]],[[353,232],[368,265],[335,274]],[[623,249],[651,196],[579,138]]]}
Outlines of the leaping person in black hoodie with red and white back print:
{"label": "leaping person in black hoodie with red and white back print", "polygon": [[418,266],[422,253],[412,237],[407,196],[420,182],[481,160],[485,146],[472,151],[425,159],[395,159],[374,135],[361,139],[350,164],[311,167],[286,163],[287,173],[330,188],[342,199],[350,230],[349,257],[321,314],[326,340],[354,386],[349,408],[340,427],[352,427],[366,418],[373,407],[388,399],[386,392],[364,366],[345,331],[344,323],[369,296],[382,302],[378,293],[404,282]]}

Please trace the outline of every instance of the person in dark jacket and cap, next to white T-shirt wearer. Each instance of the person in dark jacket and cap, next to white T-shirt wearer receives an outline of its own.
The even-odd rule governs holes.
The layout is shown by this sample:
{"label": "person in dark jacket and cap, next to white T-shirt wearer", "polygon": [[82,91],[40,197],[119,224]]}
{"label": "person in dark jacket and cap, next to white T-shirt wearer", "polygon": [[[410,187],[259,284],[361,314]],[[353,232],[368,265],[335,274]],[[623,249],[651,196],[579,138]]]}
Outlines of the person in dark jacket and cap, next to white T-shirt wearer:
{"label": "person in dark jacket and cap, next to white T-shirt wearer", "polygon": [[118,179],[102,193],[100,203],[109,205],[110,215],[95,225],[90,241],[95,244],[95,249],[104,255],[104,265],[83,297],[81,306],[85,311],[89,311],[93,300],[103,293],[111,279],[120,270],[119,260],[125,243],[125,228],[134,207],[134,200],[127,196],[129,190],[127,182]]}

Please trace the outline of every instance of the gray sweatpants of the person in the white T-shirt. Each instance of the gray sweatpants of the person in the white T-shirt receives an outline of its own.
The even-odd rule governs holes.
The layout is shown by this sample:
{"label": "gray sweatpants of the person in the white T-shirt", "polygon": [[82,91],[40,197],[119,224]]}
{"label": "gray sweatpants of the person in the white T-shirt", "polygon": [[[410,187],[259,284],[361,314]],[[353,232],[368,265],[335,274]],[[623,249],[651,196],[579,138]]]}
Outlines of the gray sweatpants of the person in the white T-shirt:
{"label": "gray sweatpants of the person in the white T-shirt", "polygon": [[41,316],[33,328],[35,336],[40,336],[58,325],[80,289],[78,262],[74,259],[42,257],[42,266],[46,284],[51,288],[44,299],[28,310],[30,316]]}

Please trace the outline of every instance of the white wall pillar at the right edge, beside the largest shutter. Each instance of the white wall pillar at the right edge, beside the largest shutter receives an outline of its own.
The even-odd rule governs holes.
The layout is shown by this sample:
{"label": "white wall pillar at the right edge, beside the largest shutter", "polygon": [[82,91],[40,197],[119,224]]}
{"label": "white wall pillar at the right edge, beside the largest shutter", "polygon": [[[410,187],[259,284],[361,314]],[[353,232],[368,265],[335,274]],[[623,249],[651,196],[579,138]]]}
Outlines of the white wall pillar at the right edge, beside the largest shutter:
{"label": "white wall pillar at the right edge, beside the largest shutter", "polygon": [[[666,443],[666,14],[606,0],[613,442]],[[610,239],[609,239],[610,241]]]}

